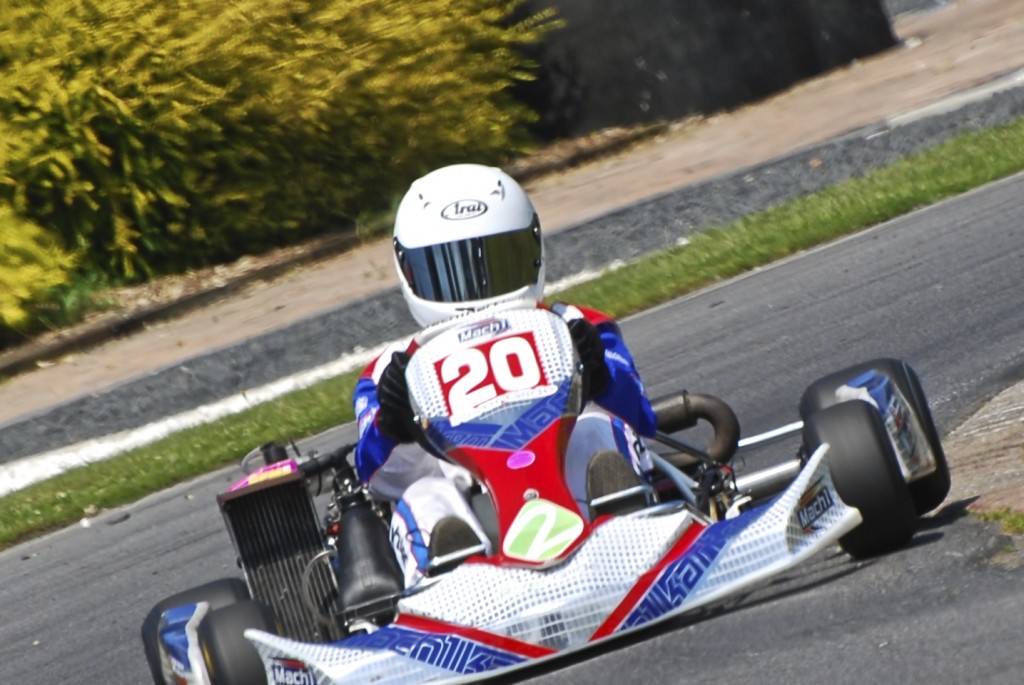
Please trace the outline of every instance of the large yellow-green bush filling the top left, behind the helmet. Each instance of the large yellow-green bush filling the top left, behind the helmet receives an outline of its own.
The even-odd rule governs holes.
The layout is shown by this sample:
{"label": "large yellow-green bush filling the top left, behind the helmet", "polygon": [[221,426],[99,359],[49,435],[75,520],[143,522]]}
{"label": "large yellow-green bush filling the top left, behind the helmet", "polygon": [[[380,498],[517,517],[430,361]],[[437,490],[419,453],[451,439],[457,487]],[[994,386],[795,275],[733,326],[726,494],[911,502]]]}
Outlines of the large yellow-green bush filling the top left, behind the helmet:
{"label": "large yellow-green bush filling the top left, behind the helmet", "polygon": [[531,114],[521,0],[0,0],[0,200],[138,281],[350,225]]}

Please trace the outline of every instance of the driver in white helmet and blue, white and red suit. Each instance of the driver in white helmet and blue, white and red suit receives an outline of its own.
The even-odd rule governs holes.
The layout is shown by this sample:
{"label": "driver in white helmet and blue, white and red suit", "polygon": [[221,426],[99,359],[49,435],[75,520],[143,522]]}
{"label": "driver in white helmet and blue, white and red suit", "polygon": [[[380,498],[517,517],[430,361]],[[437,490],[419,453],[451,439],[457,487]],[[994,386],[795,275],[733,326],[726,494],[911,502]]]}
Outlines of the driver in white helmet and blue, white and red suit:
{"label": "driver in white helmet and blue, white and red suit", "polygon": [[[504,171],[443,167],[416,180],[398,206],[394,258],[410,313],[428,327],[512,300],[542,304],[544,245],[534,205]],[[550,307],[569,327],[589,398],[566,451],[566,482],[587,503],[639,483],[651,469],[643,440],[655,417],[614,320],[585,307]],[[371,496],[394,503],[390,540],[410,587],[431,558],[481,543],[490,552],[466,493],[471,477],[416,442],[406,385],[409,341],[385,350],[362,373],[353,402],[356,470]],[[632,468],[630,468],[632,467]]]}

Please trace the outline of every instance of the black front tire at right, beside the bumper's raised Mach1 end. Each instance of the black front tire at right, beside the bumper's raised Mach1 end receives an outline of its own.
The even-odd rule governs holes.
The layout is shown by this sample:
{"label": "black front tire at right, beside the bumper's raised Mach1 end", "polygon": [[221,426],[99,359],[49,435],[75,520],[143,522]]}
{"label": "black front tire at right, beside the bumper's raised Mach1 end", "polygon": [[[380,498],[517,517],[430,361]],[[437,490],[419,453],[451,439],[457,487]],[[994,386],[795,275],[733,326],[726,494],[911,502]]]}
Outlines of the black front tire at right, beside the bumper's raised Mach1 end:
{"label": "black front tire at right, beside the bumper's raised Mach1 end", "polygon": [[828,467],[836,491],[860,510],[863,521],[840,539],[855,559],[891,552],[905,545],[916,527],[918,512],[882,417],[865,401],[834,404],[804,422],[808,454],[828,443]]}

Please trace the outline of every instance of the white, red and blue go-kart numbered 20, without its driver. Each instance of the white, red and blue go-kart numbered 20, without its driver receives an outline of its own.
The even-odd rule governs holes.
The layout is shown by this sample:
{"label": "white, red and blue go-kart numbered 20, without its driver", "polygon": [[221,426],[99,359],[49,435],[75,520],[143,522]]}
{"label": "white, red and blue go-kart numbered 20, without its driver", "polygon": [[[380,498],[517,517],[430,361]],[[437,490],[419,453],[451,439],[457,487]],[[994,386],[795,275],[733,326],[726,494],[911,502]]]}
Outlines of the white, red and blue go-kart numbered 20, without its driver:
{"label": "white, red and blue go-kart numbered 20, without its driver", "polygon": [[[490,309],[418,343],[406,376],[421,442],[474,476],[489,546],[430,559],[406,589],[387,506],[355,479],[351,445],[301,458],[264,445],[218,498],[244,581],[167,598],[143,623],[158,685],[501,676],[721,602],[834,544],[855,558],[895,550],[949,489],[916,375],[874,359],[811,384],[801,421],[743,439],[716,397],[656,399],[655,472],[599,453],[581,504],[562,474],[585,380],[561,317]],[[714,431],[703,448],[678,435],[698,424]],[[798,434],[781,464],[731,466],[737,449]]]}

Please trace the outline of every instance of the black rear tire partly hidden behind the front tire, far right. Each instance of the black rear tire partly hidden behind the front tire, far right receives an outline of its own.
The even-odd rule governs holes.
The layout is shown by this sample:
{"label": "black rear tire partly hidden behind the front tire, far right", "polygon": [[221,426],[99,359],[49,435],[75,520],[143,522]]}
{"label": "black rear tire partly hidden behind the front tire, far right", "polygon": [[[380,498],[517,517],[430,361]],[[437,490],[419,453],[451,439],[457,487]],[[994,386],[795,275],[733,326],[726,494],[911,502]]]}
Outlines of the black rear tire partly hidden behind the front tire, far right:
{"label": "black rear tire partly hidden behind the front tire, far right", "polygon": [[949,464],[942,448],[942,441],[939,439],[939,431],[935,427],[935,420],[928,406],[928,399],[921,386],[921,379],[910,365],[900,359],[879,358],[829,374],[812,383],[804,392],[800,401],[800,416],[806,421],[810,414],[836,404],[836,388],[871,370],[888,376],[903,393],[910,404],[910,410],[916,416],[925,438],[928,440],[928,446],[931,447],[932,455],[935,457],[935,471],[908,485],[918,514],[927,514],[946,499],[951,481]]}

